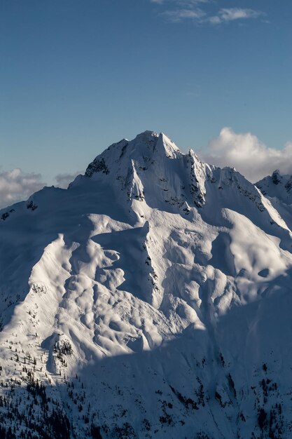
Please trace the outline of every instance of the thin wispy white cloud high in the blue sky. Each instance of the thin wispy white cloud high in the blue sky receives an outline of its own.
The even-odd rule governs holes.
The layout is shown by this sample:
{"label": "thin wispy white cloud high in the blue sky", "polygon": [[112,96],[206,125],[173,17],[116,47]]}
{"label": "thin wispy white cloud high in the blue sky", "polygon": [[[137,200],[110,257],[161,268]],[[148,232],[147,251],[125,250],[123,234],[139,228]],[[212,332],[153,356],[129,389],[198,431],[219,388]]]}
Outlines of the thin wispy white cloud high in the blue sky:
{"label": "thin wispy white cloud high in the blue sky", "polygon": [[193,20],[197,24],[221,25],[235,20],[259,18],[264,15],[262,11],[239,7],[220,8],[210,13],[204,8],[204,5],[210,4],[209,0],[151,0],[151,3],[164,6],[165,10],[160,14],[171,22]]}

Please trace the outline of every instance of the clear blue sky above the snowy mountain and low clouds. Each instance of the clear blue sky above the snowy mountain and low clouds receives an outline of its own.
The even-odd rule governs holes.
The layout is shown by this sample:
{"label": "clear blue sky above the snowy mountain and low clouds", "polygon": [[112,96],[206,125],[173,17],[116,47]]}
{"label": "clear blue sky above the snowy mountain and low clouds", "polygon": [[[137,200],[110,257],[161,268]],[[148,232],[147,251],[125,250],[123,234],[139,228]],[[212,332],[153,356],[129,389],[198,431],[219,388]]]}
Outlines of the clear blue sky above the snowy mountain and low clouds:
{"label": "clear blue sky above the snowy mountain and low clouds", "polygon": [[283,148],[291,16],[291,0],[2,0],[0,177],[53,184],[146,129],[205,154],[223,127]]}

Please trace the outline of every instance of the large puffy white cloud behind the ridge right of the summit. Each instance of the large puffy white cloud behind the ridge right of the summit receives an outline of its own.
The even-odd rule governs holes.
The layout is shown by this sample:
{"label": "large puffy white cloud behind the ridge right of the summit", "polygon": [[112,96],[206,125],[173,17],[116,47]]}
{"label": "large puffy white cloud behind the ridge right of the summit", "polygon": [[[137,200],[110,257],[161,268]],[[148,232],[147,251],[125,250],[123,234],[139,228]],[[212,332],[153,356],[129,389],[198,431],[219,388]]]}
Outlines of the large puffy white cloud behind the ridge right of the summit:
{"label": "large puffy white cloud behind the ridge right of the summit", "polygon": [[287,142],[283,149],[269,148],[256,135],[237,134],[227,127],[209,142],[200,157],[216,166],[233,166],[251,182],[271,175],[275,169],[292,174],[292,142]]}

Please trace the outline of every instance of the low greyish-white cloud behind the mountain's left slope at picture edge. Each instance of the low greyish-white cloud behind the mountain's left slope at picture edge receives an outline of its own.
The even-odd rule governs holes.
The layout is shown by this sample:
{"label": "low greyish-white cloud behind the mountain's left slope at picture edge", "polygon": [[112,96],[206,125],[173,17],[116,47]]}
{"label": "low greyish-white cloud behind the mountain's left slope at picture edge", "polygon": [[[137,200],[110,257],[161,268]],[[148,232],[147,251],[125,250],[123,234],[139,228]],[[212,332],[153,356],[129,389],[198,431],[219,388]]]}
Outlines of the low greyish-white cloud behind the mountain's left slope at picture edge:
{"label": "low greyish-white cloud behind the mountain's left slope at picture edge", "polygon": [[0,208],[27,199],[43,186],[40,174],[24,173],[19,168],[0,173]]}

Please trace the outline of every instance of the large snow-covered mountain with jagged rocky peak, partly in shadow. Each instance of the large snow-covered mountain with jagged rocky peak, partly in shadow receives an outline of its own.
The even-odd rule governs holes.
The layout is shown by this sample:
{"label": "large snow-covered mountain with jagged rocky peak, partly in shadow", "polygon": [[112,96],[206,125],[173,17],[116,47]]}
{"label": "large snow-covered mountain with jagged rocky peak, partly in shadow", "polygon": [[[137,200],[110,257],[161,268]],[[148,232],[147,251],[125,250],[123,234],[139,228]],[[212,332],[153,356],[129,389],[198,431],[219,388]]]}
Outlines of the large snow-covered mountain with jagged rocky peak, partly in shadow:
{"label": "large snow-covered mountain with jagged rocky peak, partly in shadow", "polygon": [[0,436],[290,438],[292,223],[258,187],[146,131],[1,210]]}

